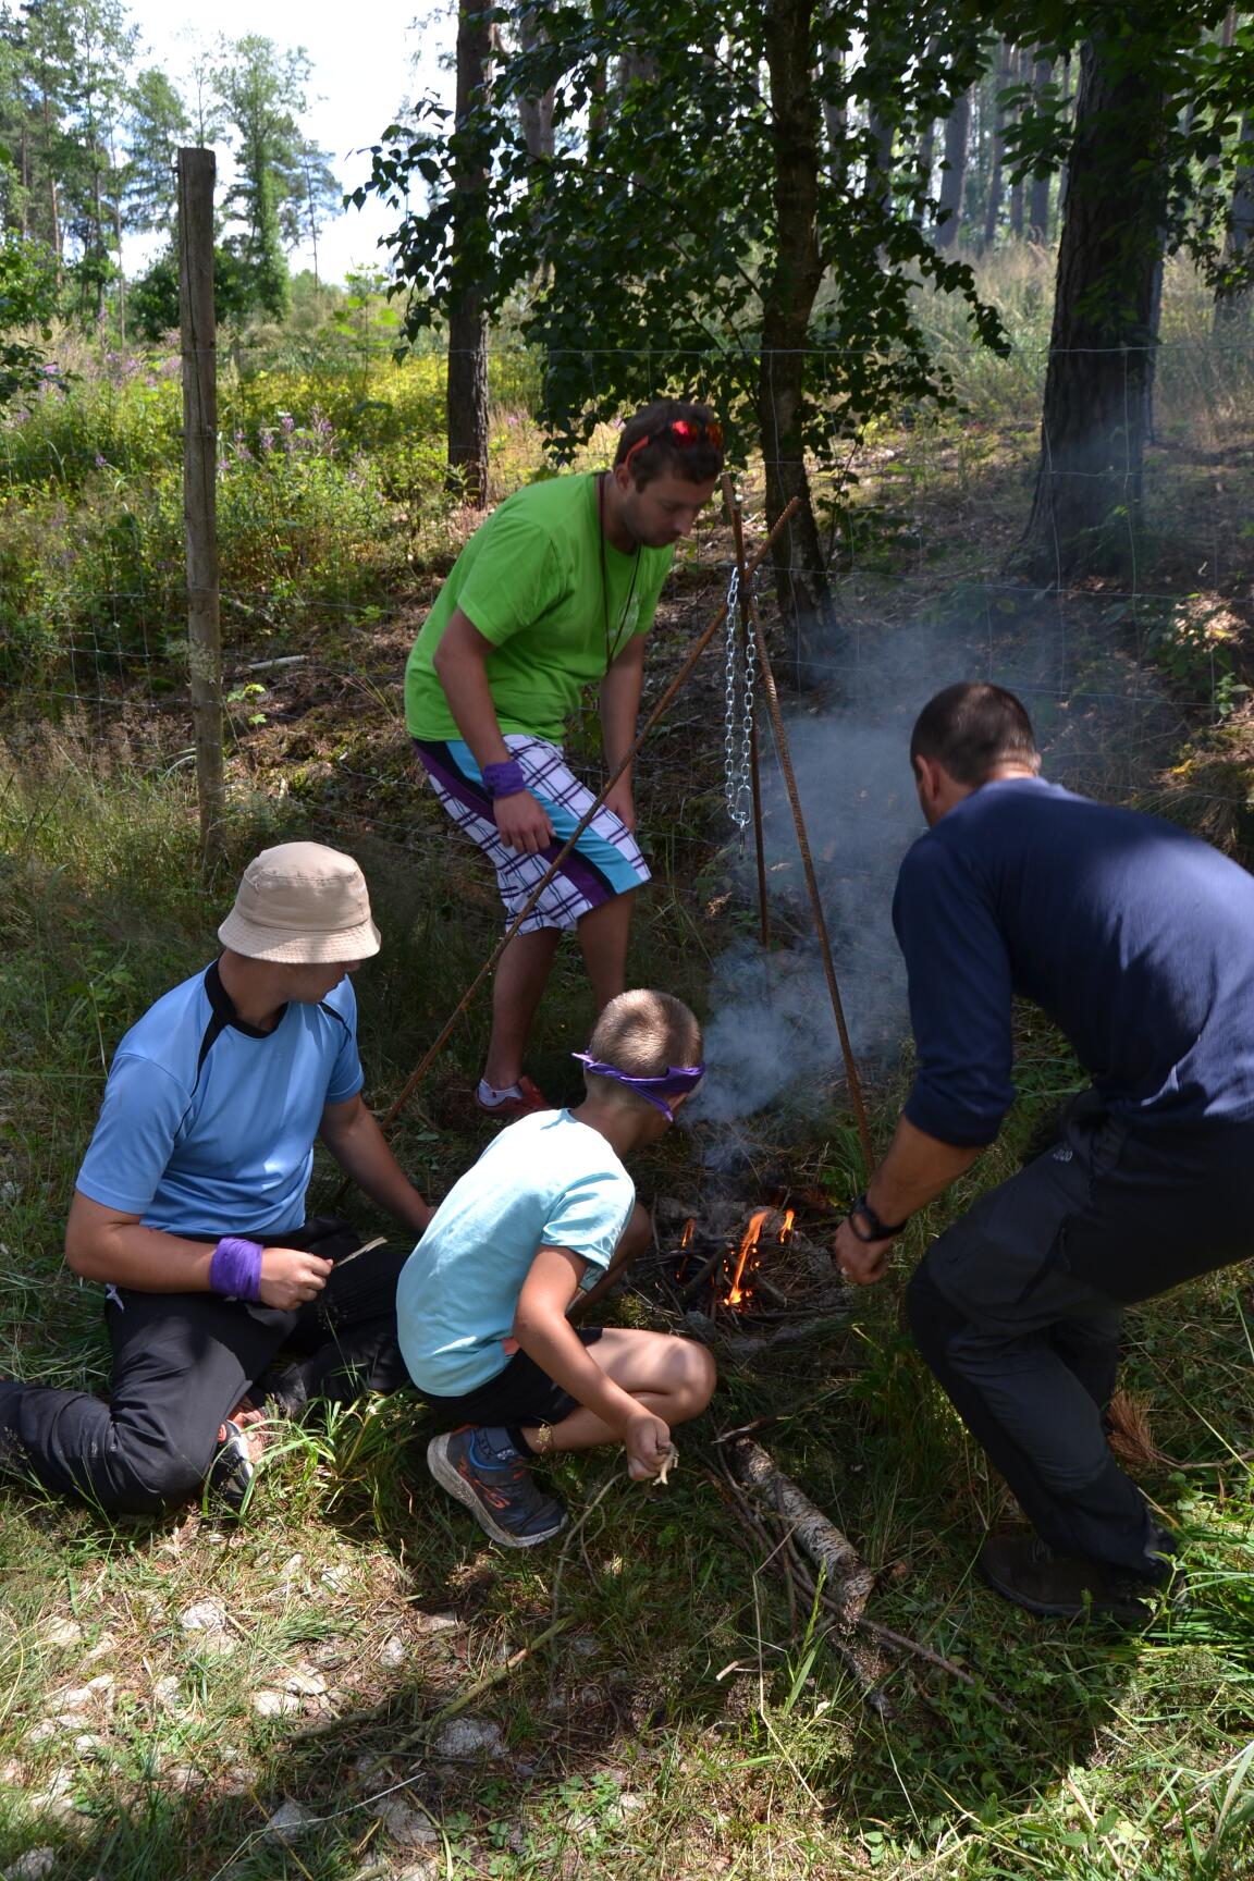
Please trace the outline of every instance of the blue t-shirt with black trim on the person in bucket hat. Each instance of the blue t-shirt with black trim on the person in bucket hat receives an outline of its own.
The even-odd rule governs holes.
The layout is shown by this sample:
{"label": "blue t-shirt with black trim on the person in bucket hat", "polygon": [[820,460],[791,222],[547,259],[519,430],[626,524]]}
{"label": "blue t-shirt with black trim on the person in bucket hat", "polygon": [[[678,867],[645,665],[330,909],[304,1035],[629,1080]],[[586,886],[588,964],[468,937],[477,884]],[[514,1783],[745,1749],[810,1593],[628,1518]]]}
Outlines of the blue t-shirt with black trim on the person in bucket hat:
{"label": "blue t-shirt with black trim on the person in bucket hat", "polygon": [[212,965],[122,1038],[77,1187],[167,1234],[299,1228],[323,1104],[361,1083],[350,980],[259,1033]]}

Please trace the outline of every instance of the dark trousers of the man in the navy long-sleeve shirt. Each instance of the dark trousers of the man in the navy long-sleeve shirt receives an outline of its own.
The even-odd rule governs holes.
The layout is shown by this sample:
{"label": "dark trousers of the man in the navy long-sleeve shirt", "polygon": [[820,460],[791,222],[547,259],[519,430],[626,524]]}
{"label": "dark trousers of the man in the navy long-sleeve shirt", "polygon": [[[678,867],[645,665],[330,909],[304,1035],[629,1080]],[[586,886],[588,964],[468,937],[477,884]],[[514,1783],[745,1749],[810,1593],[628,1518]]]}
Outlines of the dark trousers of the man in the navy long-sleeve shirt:
{"label": "dark trousers of the man in the navy long-sleeve shirt", "polygon": [[1057,1552],[1160,1576],[1162,1533],[1105,1441],[1122,1307],[1250,1253],[1254,1125],[1137,1132],[1090,1097],[929,1249],[916,1343]]}

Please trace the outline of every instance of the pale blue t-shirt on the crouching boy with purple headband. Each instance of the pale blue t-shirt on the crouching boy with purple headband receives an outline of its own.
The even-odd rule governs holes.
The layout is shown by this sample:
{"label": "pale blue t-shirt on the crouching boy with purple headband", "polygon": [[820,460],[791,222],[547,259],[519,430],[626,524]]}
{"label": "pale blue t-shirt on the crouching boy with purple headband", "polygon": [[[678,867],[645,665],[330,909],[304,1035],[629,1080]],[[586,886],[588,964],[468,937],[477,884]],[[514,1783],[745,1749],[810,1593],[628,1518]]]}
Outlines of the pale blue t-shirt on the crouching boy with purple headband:
{"label": "pale blue t-shirt on the crouching boy with purple headband", "polygon": [[632,1178],[602,1132],[568,1110],[502,1130],[449,1189],[400,1273],[397,1332],[417,1388],[461,1398],[504,1371],[538,1251],[568,1247],[588,1262],[581,1285],[594,1287],[634,1202]]}

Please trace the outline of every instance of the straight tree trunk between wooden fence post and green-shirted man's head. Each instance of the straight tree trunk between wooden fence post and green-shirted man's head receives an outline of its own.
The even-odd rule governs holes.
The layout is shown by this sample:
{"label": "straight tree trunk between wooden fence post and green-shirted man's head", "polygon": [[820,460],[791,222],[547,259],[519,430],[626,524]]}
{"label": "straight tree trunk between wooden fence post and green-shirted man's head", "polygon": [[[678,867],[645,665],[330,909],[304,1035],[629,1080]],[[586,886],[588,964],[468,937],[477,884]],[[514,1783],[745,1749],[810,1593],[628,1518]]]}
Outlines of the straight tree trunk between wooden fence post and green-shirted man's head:
{"label": "straight tree trunk between wooden fence post and green-shirted man's head", "polygon": [[485,0],[457,9],[457,103],[453,154],[453,292],[449,295],[447,487],[468,504],[487,504],[487,158],[478,109],[493,58],[493,17]]}

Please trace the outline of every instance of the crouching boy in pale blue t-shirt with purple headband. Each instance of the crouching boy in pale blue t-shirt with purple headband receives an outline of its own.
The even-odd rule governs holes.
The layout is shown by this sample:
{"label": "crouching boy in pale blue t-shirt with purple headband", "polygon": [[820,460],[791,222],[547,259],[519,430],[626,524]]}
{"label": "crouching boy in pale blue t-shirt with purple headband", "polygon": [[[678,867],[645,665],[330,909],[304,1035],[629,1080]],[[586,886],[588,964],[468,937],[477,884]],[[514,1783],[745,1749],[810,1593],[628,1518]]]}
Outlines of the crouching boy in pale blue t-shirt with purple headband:
{"label": "crouching boy in pale blue t-shirt with purple headband", "polygon": [[649,1240],[622,1159],[658,1138],[701,1080],[701,1033],[667,993],[613,999],[592,1033],[587,1097],[513,1123],[449,1191],[397,1290],[400,1351],[453,1428],[431,1471],[508,1548],[549,1541],[566,1512],[528,1463],[622,1443],[635,1478],[671,1460],[671,1428],[714,1390],[705,1347],[669,1334],[579,1328]]}

